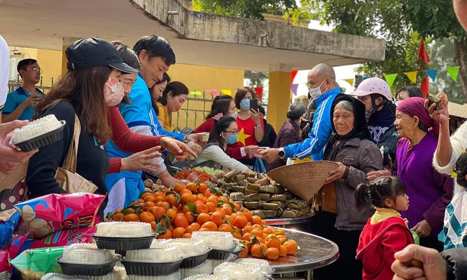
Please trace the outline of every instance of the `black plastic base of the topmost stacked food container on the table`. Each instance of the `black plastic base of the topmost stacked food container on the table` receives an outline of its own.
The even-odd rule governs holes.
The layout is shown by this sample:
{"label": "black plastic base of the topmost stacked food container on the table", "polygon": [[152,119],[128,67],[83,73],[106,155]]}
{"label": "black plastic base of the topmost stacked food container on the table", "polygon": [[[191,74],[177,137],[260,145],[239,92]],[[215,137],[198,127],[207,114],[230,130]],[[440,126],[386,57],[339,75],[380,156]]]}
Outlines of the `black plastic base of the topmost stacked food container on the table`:
{"label": "black plastic base of the topmost stacked food container on the table", "polygon": [[98,236],[91,234],[92,238],[96,241],[99,249],[115,250],[118,253],[123,251],[140,250],[151,247],[154,238],[157,237],[156,233],[143,237],[108,237]]}

